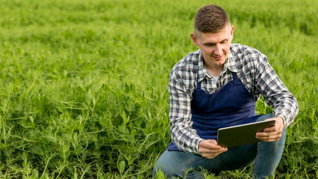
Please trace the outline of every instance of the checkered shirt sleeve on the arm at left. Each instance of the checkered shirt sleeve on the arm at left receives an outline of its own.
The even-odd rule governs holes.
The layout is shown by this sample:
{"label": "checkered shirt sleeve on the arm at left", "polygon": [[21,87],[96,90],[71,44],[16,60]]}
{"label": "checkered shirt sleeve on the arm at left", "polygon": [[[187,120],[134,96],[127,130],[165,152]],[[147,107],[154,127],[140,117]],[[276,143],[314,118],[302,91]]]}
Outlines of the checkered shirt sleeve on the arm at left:
{"label": "checkered shirt sleeve on the arm at left", "polygon": [[170,132],[173,143],[179,150],[199,154],[199,142],[203,140],[197,135],[196,130],[192,129],[191,121],[191,98],[192,91],[186,86],[190,80],[184,75],[188,73],[182,71],[172,71],[169,80],[170,93]]}

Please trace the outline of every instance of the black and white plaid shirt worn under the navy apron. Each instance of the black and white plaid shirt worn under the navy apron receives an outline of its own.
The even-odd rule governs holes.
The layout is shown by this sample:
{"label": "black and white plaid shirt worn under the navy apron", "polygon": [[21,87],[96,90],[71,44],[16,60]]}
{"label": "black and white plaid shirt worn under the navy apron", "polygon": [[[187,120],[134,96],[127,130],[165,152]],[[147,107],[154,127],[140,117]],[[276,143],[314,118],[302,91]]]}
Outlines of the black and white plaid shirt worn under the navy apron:
{"label": "black and white plaid shirt worn under the navy apron", "polygon": [[241,44],[232,44],[224,68],[216,81],[203,66],[203,56],[199,49],[183,57],[170,73],[170,132],[172,141],[180,150],[199,154],[199,142],[203,140],[192,129],[191,120],[190,104],[192,93],[197,87],[197,75],[198,81],[202,81],[202,90],[212,94],[233,80],[232,72],[237,73],[255,101],[263,95],[266,103],[273,108],[273,116],[281,116],[285,127],[293,123],[298,114],[298,103],[280,81],[264,54]]}

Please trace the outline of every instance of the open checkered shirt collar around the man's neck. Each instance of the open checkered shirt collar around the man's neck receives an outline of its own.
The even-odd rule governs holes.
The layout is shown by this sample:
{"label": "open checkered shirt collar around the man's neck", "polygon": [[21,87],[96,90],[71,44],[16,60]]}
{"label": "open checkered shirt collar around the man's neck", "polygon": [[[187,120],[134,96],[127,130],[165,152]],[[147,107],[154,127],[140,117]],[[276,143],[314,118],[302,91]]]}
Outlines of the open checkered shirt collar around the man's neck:
{"label": "open checkered shirt collar around the man's neck", "polygon": [[[231,50],[232,50],[232,48],[230,48],[230,51],[229,51],[229,54],[228,54],[228,58],[226,59],[224,67],[223,67],[223,69],[221,71],[221,75],[223,75],[228,70],[231,71],[231,72],[235,72],[235,73],[238,72],[238,69],[237,69],[236,64],[235,64],[235,58],[234,58]],[[201,52],[200,52],[200,55],[199,55],[198,76],[199,76],[198,81],[202,81],[206,77],[211,78],[209,76],[208,71],[203,66],[203,55],[202,55]]]}

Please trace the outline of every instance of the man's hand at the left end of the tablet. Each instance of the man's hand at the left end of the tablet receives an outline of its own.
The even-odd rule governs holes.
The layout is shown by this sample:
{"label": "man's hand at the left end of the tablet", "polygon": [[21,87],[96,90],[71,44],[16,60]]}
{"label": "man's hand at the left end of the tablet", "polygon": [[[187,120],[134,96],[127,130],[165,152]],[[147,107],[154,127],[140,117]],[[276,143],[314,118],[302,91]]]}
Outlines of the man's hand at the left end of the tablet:
{"label": "man's hand at the left end of the tablet", "polygon": [[216,140],[213,139],[202,140],[199,143],[199,153],[202,155],[202,157],[208,159],[213,159],[217,155],[227,151],[228,148],[217,145]]}

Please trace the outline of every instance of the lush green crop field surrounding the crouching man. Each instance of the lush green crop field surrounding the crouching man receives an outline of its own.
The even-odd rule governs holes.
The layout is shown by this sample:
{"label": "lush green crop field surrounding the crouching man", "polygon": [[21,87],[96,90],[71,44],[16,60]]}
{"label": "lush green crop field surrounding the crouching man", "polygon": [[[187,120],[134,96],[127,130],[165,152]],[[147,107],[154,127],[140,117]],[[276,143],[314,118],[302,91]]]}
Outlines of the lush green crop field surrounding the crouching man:
{"label": "lush green crop field surrounding the crouching man", "polygon": [[314,0],[0,0],[0,178],[151,178],[170,142],[170,70],[211,2],[298,100],[274,177],[317,178]]}

